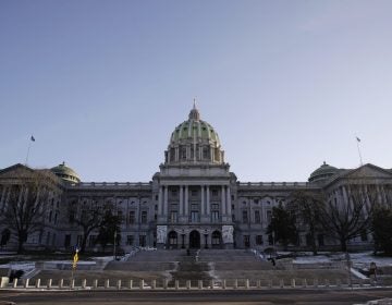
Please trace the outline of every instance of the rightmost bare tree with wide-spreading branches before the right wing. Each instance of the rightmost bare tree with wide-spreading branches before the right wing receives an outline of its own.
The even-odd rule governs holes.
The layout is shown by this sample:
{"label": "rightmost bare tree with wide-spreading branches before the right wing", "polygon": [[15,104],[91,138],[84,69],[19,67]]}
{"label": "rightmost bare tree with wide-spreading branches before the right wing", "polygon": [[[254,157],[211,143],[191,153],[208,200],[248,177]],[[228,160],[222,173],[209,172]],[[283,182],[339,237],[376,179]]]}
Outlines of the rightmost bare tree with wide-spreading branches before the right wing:
{"label": "rightmost bare tree with wide-spreading branches before the right wing", "polygon": [[371,216],[379,203],[376,185],[346,185],[346,194],[329,196],[320,205],[320,222],[326,232],[347,251],[347,242],[371,230]]}

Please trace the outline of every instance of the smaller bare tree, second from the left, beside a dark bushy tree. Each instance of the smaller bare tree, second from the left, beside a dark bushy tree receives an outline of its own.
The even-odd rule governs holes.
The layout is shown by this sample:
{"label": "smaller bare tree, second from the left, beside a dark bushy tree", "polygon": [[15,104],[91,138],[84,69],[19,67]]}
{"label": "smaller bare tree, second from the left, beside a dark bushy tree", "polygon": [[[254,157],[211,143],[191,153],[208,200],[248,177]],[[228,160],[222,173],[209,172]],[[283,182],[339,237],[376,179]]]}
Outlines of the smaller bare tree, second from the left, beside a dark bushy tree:
{"label": "smaller bare tree, second from the left, beside a dark bushy tree", "polygon": [[[79,206],[78,206],[79,205]],[[106,213],[112,210],[113,204],[99,203],[96,198],[89,198],[83,203],[72,202],[68,207],[68,213],[71,223],[76,223],[83,231],[79,244],[81,253],[86,249],[87,239],[89,234],[105,225]]]}

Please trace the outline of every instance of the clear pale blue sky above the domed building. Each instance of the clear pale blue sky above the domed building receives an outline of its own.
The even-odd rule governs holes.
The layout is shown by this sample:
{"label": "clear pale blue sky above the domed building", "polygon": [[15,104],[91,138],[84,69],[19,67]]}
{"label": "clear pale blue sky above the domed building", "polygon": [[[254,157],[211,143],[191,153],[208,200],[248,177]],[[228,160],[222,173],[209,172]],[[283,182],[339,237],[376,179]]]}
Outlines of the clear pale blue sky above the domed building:
{"label": "clear pale blue sky above the domed building", "polygon": [[[2,0],[0,169],[148,182],[196,97],[242,182],[392,168],[392,1]],[[35,142],[30,142],[34,135]]]}

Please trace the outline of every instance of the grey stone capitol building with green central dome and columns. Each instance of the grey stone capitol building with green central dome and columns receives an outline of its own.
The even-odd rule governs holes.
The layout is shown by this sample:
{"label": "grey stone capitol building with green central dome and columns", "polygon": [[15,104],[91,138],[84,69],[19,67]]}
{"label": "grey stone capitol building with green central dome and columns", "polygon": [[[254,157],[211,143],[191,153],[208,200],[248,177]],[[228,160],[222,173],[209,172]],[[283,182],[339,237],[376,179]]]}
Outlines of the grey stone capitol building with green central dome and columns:
{"label": "grey stone capitol building with green central dome and columns", "polygon": [[[23,164],[0,170],[1,212],[9,208],[12,187],[21,173],[32,171]],[[377,185],[384,200],[391,198],[391,188],[384,186],[392,185],[391,169],[373,164],[339,169],[326,162],[309,173],[307,182],[240,182],[230,171],[217,130],[203,120],[195,106],[170,135],[162,163],[150,182],[83,182],[65,163],[50,172],[53,182],[40,219],[42,225],[26,237],[25,247],[71,249],[79,245],[83,230],[71,218],[86,212],[84,207],[94,202],[111,203],[121,216],[119,246],[125,251],[133,246],[264,249],[279,246],[267,233],[272,208],[290,203],[294,193],[323,192],[343,204],[358,172],[366,183]],[[0,233],[8,228],[8,220],[1,219]],[[11,230],[3,248],[16,246],[13,234]],[[97,247],[97,230],[88,232],[87,248]],[[298,234],[297,244],[291,246],[309,248],[306,228]],[[323,232],[318,232],[316,241],[319,248],[336,245]],[[350,245],[369,246],[371,234],[364,232]]]}

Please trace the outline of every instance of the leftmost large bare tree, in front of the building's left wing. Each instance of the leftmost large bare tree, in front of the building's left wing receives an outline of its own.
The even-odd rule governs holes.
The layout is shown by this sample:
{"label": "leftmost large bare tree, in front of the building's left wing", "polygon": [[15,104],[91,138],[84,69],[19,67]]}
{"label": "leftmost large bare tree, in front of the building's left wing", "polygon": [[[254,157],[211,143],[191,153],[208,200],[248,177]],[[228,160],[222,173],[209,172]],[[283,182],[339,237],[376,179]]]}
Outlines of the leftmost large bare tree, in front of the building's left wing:
{"label": "leftmost large bare tree, in front of the building's left wing", "polygon": [[16,235],[17,253],[24,251],[27,237],[44,227],[45,206],[52,186],[52,175],[47,171],[25,170],[15,175],[3,223]]}

